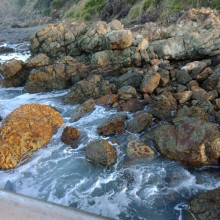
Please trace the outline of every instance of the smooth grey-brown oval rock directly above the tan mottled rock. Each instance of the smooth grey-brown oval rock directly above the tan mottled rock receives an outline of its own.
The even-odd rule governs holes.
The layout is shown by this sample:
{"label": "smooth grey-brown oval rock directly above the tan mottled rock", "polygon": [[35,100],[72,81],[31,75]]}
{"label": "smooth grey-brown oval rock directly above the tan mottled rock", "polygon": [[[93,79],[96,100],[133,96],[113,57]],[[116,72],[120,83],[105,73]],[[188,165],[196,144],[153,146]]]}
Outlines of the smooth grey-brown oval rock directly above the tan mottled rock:
{"label": "smooth grey-brown oval rock directly above the tan mottled rock", "polygon": [[152,115],[148,113],[141,113],[135,116],[133,120],[128,125],[127,130],[132,133],[142,133],[145,131],[150,125],[152,125]]}

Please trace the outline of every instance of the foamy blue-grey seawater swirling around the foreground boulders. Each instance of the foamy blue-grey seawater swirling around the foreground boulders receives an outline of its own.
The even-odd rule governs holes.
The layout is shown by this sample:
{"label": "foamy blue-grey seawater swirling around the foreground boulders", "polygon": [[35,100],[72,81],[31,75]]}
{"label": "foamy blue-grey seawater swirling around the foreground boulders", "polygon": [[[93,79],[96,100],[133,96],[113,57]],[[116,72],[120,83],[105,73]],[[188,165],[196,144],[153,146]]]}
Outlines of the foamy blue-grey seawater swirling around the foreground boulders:
{"label": "foamy blue-grey seawater swirling around the foreground boulders", "polygon": [[[118,138],[120,145],[114,145],[118,161],[112,168],[85,160],[83,148],[100,137],[97,126],[115,110],[96,106],[92,114],[70,123],[76,106],[63,105],[67,92],[28,94],[23,88],[0,88],[3,118],[22,104],[39,103],[56,107],[65,120],[50,144],[34,153],[28,163],[0,171],[0,188],[114,219],[181,220],[186,219],[188,199],[220,187],[218,167],[188,169],[160,156],[153,161],[128,161],[125,143],[129,133]],[[67,125],[83,133],[77,149],[60,140]]]}

